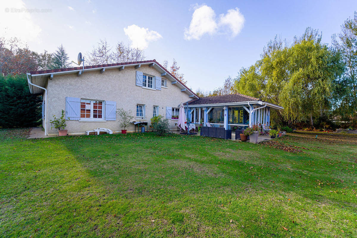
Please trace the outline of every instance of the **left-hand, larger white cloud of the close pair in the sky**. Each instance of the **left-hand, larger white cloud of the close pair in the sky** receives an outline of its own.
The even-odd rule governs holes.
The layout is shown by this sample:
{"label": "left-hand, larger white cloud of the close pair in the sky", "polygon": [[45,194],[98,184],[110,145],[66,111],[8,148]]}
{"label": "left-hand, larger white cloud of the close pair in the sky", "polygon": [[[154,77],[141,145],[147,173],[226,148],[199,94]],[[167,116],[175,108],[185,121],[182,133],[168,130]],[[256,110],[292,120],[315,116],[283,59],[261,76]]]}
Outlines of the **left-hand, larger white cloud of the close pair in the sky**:
{"label": "left-hand, larger white cloud of the close pair in the sky", "polygon": [[207,5],[196,6],[188,29],[185,28],[185,40],[200,40],[204,34],[213,35],[217,31],[216,14]]}

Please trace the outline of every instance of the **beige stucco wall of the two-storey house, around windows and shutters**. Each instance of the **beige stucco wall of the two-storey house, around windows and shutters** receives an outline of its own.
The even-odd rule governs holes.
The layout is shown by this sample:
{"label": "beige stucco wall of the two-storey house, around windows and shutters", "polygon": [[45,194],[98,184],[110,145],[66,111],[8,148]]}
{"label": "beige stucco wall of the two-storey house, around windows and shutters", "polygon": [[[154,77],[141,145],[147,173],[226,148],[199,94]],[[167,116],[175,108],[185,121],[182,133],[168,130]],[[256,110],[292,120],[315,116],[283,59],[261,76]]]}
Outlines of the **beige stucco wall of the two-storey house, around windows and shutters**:
{"label": "beige stucco wall of the two-storey house, around windows and shutters", "polygon": [[[124,70],[106,69],[103,74],[99,70],[84,72],[81,76],[77,74],[66,74],[55,76],[48,80],[47,85],[47,120],[51,120],[53,115],[59,116],[61,110],[65,110],[66,97],[79,97],[92,100],[116,101],[117,108],[132,110],[133,116],[136,116],[136,104],[146,105],[146,120],[150,125],[152,118],[152,107],[159,106],[159,114],[165,117],[166,107],[177,107],[181,102],[186,102],[192,98],[186,92],[171,82],[167,81],[167,88],[161,90],[150,90],[135,85],[136,70],[144,74],[160,76],[160,72],[149,66],[125,67]],[[155,79],[154,79],[155,80]],[[112,131],[120,131],[119,115],[116,121],[106,122],[79,122],[67,121],[68,133],[81,133],[87,130],[93,130],[97,127],[109,128]],[[135,121],[139,121],[135,119]],[[48,122],[48,121],[47,121]],[[177,120],[170,120],[170,128],[175,128]],[[58,132],[55,128],[51,129],[48,122],[48,134],[54,135]],[[134,125],[127,128],[128,131],[134,131]]]}

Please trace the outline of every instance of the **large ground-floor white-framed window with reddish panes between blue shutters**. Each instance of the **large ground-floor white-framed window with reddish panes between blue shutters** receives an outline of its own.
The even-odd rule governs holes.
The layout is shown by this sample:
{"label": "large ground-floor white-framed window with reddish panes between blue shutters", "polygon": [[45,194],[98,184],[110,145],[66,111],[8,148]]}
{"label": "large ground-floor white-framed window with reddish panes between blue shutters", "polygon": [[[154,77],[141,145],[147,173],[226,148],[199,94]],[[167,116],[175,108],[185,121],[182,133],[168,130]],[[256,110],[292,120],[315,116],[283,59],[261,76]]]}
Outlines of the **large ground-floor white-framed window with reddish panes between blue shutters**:
{"label": "large ground-floor white-framed window with reddish panes between blue shutters", "polygon": [[104,101],[81,99],[81,119],[103,120]]}

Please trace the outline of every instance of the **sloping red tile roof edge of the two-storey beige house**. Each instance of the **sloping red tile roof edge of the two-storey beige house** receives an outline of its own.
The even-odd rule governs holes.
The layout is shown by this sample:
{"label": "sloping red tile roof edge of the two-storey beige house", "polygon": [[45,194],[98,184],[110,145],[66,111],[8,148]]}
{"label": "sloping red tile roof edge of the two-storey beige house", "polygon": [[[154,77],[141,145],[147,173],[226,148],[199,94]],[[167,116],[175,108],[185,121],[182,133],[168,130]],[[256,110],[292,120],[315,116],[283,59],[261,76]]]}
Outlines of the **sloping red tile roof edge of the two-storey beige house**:
{"label": "sloping red tile roof edge of the two-storey beige house", "polygon": [[[104,65],[88,65],[84,66],[84,69],[95,69],[95,68],[102,68],[102,67],[110,67],[110,66],[121,66],[121,65],[132,65],[132,64],[145,64],[145,63],[155,63],[159,65],[163,70],[166,71],[167,74],[171,75],[175,80],[180,82],[188,91],[190,91],[196,97],[197,94],[192,92],[190,88],[188,88],[184,83],[178,80],[174,75],[172,75],[164,66],[159,64],[155,59],[154,60],[143,60],[143,61],[134,61],[134,62],[124,62],[124,63],[115,63],[115,64],[104,64]],[[37,71],[30,71],[31,76],[36,74],[52,74],[56,72],[65,72],[65,71],[72,71],[72,70],[81,70],[83,67],[71,67],[71,68],[64,68],[64,69],[53,69],[53,70],[37,70]]]}

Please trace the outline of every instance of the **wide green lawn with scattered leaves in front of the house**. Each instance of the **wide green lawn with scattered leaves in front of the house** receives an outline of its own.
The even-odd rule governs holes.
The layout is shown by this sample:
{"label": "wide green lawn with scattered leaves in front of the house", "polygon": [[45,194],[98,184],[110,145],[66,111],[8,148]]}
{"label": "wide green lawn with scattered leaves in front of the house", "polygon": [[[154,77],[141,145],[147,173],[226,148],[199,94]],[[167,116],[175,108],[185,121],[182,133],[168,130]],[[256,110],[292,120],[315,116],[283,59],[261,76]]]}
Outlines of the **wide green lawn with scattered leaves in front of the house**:
{"label": "wide green lawn with scattered leaves in front of the house", "polygon": [[0,130],[0,237],[357,237],[357,137],[315,135]]}

